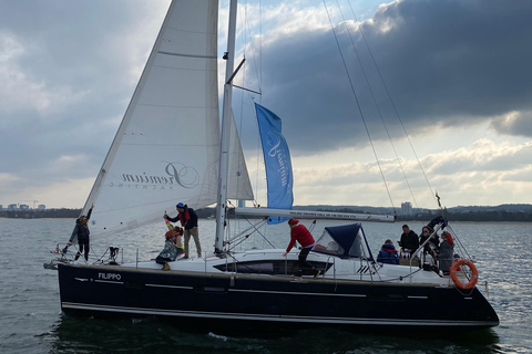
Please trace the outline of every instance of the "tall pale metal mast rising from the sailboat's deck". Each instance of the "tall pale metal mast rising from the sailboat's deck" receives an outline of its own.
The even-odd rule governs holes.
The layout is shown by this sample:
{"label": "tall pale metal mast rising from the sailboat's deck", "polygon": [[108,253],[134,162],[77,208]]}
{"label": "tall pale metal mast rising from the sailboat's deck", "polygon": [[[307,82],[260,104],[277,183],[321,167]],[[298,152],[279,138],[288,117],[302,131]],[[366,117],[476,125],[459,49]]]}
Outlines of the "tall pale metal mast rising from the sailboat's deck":
{"label": "tall pale metal mast rising from the sailboat's deck", "polygon": [[224,232],[227,201],[227,175],[228,175],[228,150],[229,150],[229,129],[231,112],[233,101],[233,69],[235,62],[235,33],[236,33],[236,4],[237,0],[231,0],[229,4],[229,27],[227,31],[227,52],[224,55],[225,64],[225,84],[224,103],[222,113],[222,138],[219,150],[219,173],[218,173],[218,200],[216,205],[216,239],[215,253],[221,254],[224,250]]}

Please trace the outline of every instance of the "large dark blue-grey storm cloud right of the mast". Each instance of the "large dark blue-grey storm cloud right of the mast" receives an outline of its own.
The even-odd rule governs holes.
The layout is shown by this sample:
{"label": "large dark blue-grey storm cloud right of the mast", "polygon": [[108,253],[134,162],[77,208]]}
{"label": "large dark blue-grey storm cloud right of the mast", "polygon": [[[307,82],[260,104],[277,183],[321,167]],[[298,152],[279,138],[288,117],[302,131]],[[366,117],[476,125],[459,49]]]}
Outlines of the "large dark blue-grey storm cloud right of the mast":
{"label": "large dark blue-grey storm cloud right of the mast", "polygon": [[[532,1],[396,1],[362,30],[409,133],[438,124],[468,127],[532,105]],[[347,17],[347,14],[346,14]],[[352,15],[351,15],[352,18]],[[341,18],[339,19],[341,21]],[[360,38],[350,23],[390,134],[401,128]],[[344,23],[336,27],[368,128],[385,137]],[[264,48],[263,103],[282,116],[295,154],[367,144],[360,114],[330,30],[284,33]],[[530,114],[526,114],[529,116]],[[532,136],[532,121],[492,124]]]}

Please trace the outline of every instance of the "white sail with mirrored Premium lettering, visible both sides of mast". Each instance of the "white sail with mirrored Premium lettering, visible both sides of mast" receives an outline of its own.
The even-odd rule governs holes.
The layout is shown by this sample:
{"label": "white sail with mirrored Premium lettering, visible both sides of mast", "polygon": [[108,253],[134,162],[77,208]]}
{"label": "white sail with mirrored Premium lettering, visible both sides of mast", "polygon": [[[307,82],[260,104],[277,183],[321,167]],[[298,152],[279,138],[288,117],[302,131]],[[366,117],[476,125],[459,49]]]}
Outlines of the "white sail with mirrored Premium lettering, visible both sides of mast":
{"label": "white sail with mirrored Premium lettering, visible both sides of mast", "polygon": [[[84,207],[91,233],[162,220],[181,201],[216,202],[217,0],[174,0]],[[232,123],[227,198],[253,199]],[[237,181],[235,178],[237,177]]]}

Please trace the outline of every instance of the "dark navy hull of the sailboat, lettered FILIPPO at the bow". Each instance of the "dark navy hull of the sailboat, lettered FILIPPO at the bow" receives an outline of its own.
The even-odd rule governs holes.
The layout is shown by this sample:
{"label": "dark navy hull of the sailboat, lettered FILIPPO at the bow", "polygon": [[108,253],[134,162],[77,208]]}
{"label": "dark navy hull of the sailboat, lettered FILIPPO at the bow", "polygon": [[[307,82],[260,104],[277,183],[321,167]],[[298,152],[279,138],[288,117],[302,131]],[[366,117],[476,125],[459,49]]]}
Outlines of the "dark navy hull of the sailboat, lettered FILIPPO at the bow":
{"label": "dark navy hull of the sailboat, lettered FILIPPO at the bow", "polygon": [[499,324],[478,289],[294,280],[59,264],[61,308],[90,315],[344,326],[481,329]]}

